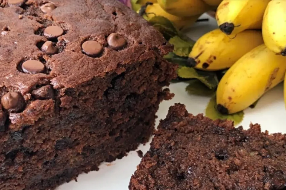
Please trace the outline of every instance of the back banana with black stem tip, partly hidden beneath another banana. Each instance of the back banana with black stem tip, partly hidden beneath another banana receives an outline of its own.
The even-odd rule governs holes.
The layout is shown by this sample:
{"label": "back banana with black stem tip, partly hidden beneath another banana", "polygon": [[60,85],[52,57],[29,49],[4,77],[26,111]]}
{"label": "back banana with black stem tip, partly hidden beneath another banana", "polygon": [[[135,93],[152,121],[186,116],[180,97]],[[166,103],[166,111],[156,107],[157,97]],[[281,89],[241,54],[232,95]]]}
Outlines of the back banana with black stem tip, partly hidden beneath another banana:
{"label": "back banana with black stem tip, partly hidden beneath another banana", "polygon": [[[138,10],[137,13],[139,11],[140,10]],[[155,16],[162,16],[169,19],[169,21],[171,21],[174,26],[179,30],[192,25],[200,17],[200,15],[195,15],[192,17],[177,17],[167,13],[164,9],[161,8],[158,3],[153,3],[153,5],[148,5],[146,7],[145,14],[143,15],[143,17],[148,21]]]}

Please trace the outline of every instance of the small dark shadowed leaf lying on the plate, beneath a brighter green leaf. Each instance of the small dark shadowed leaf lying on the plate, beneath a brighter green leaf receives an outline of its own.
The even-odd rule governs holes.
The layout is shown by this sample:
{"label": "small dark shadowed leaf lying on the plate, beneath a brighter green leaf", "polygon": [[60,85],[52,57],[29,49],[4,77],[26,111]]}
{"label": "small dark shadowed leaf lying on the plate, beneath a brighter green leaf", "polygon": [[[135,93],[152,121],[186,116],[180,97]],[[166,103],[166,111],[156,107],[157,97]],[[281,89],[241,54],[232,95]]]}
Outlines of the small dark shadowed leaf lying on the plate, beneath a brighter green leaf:
{"label": "small dark shadowed leaf lying on the plate, beneath a brighter green leaf", "polygon": [[193,79],[189,81],[189,85],[186,87],[186,91],[191,95],[198,96],[211,96],[215,93],[214,89],[209,89],[201,81]]}

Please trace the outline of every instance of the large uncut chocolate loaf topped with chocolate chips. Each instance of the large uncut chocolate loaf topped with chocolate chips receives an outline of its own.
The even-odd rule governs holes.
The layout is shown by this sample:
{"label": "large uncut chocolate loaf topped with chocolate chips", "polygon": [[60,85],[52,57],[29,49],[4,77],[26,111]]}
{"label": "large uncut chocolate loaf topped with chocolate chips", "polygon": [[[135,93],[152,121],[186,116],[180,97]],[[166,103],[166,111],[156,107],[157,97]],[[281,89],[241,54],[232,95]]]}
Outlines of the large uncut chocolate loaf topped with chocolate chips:
{"label": "large uncut chocolate loaf topped with chocolate chips", "polygon": [[0,0],[0,189],[54,189],[145,143],[176,66],[117,0]]}

